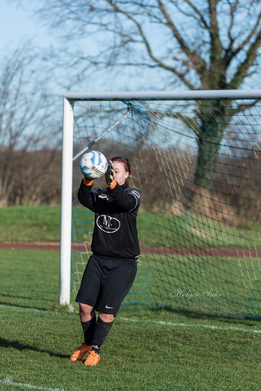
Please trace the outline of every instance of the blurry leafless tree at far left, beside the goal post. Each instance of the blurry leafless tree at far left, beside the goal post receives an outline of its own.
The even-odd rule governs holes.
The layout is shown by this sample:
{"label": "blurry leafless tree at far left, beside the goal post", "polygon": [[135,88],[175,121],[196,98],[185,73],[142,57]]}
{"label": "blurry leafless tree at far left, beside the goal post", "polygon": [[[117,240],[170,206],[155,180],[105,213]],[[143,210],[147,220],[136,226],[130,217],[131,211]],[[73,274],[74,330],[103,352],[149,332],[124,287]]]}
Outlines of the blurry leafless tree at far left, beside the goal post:
{"label": "blurry leafless tree at far left, beside the goal post", "polygon": [[[48,76],[27,42],[0,64],[0,204],[36,203],[46,187],[58,139]],[[52,129],[51,129],[52,128]],[[52,140],[52,141],[50,141]],[[53,153],[39,158],[45,147]],[[44,182],[45,181],[45,182]],[[41,197],[40,197],[41,198]]]}

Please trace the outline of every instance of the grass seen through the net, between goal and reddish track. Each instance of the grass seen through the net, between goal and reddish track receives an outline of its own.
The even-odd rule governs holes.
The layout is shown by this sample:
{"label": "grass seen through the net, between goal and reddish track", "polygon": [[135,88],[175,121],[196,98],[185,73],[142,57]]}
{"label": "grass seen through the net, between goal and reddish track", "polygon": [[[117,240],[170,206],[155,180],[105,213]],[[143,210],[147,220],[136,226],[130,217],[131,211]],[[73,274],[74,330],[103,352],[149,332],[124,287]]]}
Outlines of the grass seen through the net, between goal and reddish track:
{"label": "grass seen through the net, between goal and reddish track", "polygon": [[[89,253],[74,253],[74,293]],[[124,308],[179,308],[209,314],[259,317],[261,275],[256,259],[142,253]]]}

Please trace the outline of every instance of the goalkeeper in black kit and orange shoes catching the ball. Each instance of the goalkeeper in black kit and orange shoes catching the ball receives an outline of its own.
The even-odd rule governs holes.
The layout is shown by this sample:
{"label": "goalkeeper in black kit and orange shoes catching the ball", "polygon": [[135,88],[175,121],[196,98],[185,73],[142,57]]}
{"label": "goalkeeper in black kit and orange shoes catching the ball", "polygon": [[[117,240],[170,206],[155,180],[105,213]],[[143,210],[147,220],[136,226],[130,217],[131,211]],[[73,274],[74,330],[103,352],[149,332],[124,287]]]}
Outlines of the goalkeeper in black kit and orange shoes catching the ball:
{"label": "goalkeeper in black kit and orange shoes catching the ball", "polygon": [[108,161],[105,174],[107,188],[92,188],[93,180],[85,177],[78,190],[79,202],[95,213],[92,255],[75,299],[79,302],[84,343],[70,357],[77,361],[88,353],[85,365],[100,361],[101,346],[137,273],[140,194],[130,188],[130,172],[127,158],[114,157]]}

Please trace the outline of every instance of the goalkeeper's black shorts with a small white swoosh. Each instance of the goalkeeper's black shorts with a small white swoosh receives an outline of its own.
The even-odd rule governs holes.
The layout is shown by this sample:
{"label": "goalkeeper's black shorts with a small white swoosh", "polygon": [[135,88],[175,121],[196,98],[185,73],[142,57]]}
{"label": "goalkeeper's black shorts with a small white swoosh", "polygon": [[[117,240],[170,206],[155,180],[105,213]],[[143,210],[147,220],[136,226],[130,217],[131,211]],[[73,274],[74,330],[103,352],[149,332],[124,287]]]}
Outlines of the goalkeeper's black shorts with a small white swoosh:
{"label": "goalkeeper's black shorts with a small white swoosh", "polygon": [[75,301],[116,316],[137,273],[137,261],[91,255]]}

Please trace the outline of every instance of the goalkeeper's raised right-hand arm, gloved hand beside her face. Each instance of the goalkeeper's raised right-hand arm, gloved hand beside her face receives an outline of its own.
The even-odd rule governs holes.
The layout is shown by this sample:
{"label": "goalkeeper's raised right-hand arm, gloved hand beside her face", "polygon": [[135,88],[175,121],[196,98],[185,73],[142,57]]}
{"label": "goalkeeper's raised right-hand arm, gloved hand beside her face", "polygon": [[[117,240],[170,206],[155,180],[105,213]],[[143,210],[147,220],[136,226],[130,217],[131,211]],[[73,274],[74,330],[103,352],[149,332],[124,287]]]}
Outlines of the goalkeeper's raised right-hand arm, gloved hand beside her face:
{"label": "goalkeeper's raised right-hand arm, gloved hand beside her face", "polygon": [[114,179],[112,162],[108,161],[108,170],[105,173],[105,180],[108,185],[110,195],[114,201],[122,208],[131,211],[140,203],[140,194],[137,190],[130,189],[125,192],[119,183]]}

